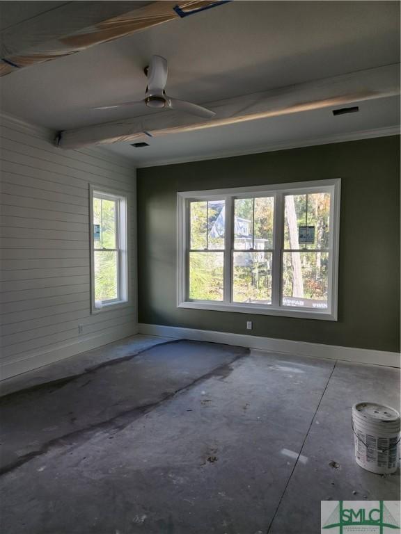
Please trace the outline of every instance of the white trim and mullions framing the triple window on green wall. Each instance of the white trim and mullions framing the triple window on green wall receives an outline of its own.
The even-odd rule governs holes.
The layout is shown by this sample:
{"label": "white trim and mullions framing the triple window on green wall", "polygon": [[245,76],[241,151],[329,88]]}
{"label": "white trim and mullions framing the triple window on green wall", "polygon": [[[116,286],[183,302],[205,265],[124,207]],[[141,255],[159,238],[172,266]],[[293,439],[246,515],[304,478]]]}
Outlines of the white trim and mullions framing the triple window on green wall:
{"label": "white trim and mullions framing the triple window on green wall", "polygon": [[[243,314],[261,314],[297,318],[320,319],[324,321],[337,321],[338,314],[338,250],[340,236],[340,188],[341,179],[313,180],[302,181],[291,184],[274,184],[268,186],[254,187],[237,187],[227,189],[212,189],[209,191],[184,191],[177,193],[177,307],[191,309],[207,309],[217,312],[239,312]],[[330,192],[330,247],[331,262],[329,264],[329,288],[328,288],[328,308],[324,309],[299,309],[294,307],[277,307],[273,305],[257,305],[233,303],[230,300],[230,280],[232,270],[232,245],[233,236],[228,232],[230,228],[230,218],[233,213],[233,198],[241,196],[242,198],[252,197],[255,193],[263,196],[264,194],[283,195],[290,193],[292,195],[313,193],[313,192]],[[226,249],[225,249],[225,268],[223,273],[224,281],[224,300],[215,302],[212,300],[187,300],[187,284],[189,282],[188,262],[187,262],[187,228],[188,228],[188,205],[190,200],[217,200],[224,198],[226,200]],[[276,202],[274,206],[274,227],[283,225],[283,203]],[[281,234],[281,236],[279,235]],[[273,272],[277,273],[281,269],[281,258],[283,254],[282,232],[274,231],[274,254]],[[278,251],[278,253],[277,253]],[[281,276],[280,276],[281,279]],[[280,284],[274,284],[272,291],[281,291]],[[273,297],[273,295],[272,295]],[[278,295],[275,300],[277,302]]]}

